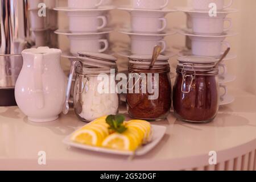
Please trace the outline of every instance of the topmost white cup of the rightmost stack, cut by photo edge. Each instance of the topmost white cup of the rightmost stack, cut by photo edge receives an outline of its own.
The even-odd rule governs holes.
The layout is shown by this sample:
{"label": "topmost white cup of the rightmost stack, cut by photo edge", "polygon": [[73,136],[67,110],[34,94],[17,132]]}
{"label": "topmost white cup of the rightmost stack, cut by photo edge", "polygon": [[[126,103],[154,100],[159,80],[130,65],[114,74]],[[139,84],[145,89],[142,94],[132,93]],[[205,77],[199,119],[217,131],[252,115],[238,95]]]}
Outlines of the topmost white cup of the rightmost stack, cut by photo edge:
{"label": "topmost white cup of the rightmost stack, cut by photo edge", "polygon": [[227,9],[233,4],[233,0],[229,0],[228,5],[225,5],[224,0],[193,0],[193,9],[209,10],[212,9],[212,3],[215,3],[217,10]]}

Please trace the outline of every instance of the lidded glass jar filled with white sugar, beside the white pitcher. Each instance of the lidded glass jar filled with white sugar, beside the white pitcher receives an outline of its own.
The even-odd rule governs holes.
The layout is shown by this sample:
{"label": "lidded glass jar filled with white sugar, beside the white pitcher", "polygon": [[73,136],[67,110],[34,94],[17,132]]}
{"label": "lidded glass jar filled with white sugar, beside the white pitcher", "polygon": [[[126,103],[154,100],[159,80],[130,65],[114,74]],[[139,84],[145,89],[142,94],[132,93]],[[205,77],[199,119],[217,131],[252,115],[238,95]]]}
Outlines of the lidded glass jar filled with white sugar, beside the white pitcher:
{"label": "lidded glass jar filled with white sugar, beside the white pitcher", "polygon": [[[116,59],[111,56],[106,60],[102,56],[80,52],[77,57],[79,60],[72,63],[69,80],[76,72],[74,109],[77,117],[84,122],[118,113],[119,96],[115,92],[114,80],[117,73]],[[70,90],[67,90],[67,94],[70,94]]]}

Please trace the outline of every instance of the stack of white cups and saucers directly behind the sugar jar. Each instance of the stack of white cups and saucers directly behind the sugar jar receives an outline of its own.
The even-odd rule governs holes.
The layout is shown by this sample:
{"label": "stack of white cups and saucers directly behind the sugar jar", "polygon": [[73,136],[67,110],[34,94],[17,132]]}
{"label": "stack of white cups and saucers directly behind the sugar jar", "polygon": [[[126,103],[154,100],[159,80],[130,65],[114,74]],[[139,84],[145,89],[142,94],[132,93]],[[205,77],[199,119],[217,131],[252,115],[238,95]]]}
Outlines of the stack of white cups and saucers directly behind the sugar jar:
{"label": "stack of white cups and saucers directly behind the sugar jar", "polygon": [[[110,3],[110,5],[107,5]],[[73,60],[79,51],[109,53],[109,11],[114,6],[106,0],[68,0],[67,7],[56,7],[54,10],[67,13],[69,28],[56,30],[57,35],[66,35],[69,39],[69,50],[63,51],[63,57]]]}

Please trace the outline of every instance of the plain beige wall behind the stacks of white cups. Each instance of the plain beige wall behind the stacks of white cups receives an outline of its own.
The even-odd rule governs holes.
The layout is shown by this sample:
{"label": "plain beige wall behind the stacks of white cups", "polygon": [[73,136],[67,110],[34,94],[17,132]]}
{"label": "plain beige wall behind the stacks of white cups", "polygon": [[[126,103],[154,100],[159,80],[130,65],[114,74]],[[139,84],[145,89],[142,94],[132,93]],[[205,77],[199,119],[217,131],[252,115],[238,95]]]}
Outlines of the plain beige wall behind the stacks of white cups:
{"label": "plain beige wall behind the stacks of white cups", "polygon": [[[115,3],[122,5],[128,3],[129,0],[116,0]],[[169,7],[185,6],[187,0],[171,0]],[[59,0],[59,5],[64,6],[65,0]],[[255,0],[234,0],[232,8],[240,10],[239,13],[228,15],[233,19],[233,30],[236,30],[239,35],[228,38],[227,40],[232,45],[232,52],[237,53],[236,60],[227,61],[229,73],[236,75],[237,80],[228,84],[247,92],[256,94],[256,1]],[[112,11],[113,22],[117,24],[129,23],[129,14],[114,10]],[[68,26],[67,16],[60,14],[60,28]],[[171,13],[167,15],[169,27],[180,27],[185,24],[185,15],[183,13]],[[112,34],[113,42],[126,41],[129,38],[118,33]],[[169,46],[183,46],[185,39],[182,35],[172,35],[166,38]],[[68,39],[65,36],[60,36],[60,48],[68,48]],[[67,60],[63,60],[68,63]],[[173,63],[176,57],[171,60]],[[173,70],[174,71],[174,70]]]}

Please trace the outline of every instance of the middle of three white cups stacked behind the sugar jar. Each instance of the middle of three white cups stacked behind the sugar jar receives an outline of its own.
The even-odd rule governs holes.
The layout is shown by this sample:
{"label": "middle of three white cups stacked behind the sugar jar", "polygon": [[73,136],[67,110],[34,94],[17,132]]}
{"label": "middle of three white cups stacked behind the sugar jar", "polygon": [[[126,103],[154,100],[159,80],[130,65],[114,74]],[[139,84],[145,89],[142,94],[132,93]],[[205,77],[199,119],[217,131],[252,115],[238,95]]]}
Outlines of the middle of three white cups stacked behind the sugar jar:
{"label": "middle of three white cups stacked behind the sugar jar", "polygon": [[106,16],[99,11],[70,11],[68,12],[69,30],[71,32],[95,32],[108,24]]}

